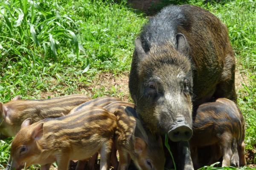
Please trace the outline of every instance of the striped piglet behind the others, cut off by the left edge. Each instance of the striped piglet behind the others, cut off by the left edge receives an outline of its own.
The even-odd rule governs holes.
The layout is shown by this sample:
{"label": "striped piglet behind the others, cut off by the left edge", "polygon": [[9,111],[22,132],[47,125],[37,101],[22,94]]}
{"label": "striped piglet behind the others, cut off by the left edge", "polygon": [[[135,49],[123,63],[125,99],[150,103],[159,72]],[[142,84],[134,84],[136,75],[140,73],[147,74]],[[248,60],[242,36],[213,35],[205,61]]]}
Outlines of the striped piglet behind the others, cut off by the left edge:
{"label": "striped piglet behind the others, cut off by the left edge", "polygon": [[90,100],[82,94],[61,96],[52,99],[20,100],[20,96],[7,103],[0,102],[0,139],[15,136],[22,122],[31,118],[32,123],[45,118],[67,115],[73,108]]}

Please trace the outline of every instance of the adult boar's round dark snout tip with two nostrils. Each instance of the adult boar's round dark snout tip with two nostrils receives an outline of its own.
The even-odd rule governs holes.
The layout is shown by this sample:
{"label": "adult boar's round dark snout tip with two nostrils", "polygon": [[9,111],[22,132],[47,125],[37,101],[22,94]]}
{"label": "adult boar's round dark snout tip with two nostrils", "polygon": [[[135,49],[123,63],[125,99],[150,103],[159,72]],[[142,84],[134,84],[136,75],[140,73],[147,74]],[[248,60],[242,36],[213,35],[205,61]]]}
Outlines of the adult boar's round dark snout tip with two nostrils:
{"label": "adult boar's round dark snout tip with two nostrils", "polygon": [[173,142],[188,141],[192,134],[193,131],[188,125],[178,125],[168,132],[168,136]]}

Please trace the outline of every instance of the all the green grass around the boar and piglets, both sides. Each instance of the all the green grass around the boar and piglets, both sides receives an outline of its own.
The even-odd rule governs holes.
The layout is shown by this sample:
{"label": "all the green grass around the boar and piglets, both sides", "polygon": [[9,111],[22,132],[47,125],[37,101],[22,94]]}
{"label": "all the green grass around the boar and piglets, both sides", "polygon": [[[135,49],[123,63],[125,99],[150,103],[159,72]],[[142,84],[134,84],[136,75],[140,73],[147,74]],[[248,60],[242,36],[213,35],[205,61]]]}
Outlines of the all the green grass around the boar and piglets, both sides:
{"label": "all the green grass around the boar and piglets, both sides", "polygon": [[[162,0],[150,12],[183,3],[206,8],[229,28],[246,82],[237,92],[246,119],[246,148],[255,150],[256,1]],[[145,22],[125,0],[0,0],[0,101],[15,95],[39,99],[89,94],[84,89],[99,73],[129,71],[134,39]],[[107,94],[122,95],[118,93],[113,88]],[[92,97],[102,95],[106,93],[93,91]],[[8,159],[10,142],[0,141],[0,168]]]}

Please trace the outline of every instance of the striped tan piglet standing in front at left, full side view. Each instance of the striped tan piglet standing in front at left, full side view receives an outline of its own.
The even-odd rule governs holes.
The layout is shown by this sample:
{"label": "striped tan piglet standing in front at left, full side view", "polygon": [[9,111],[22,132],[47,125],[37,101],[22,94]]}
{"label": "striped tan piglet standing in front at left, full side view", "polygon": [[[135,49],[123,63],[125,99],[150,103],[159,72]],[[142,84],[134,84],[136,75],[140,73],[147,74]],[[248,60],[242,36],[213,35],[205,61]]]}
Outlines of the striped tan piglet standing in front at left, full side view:
{"label": "striped tan piglet standing in front at left, full side view", "polygon": [[13,139],[13,167],[41,164],[48,170],[58,162],[58,170],[68,170],[70,160],[101,155],[100,170],[109,169],[116,116],[103,108],[88,108],[55,119],[44,119],[31,125],[26,119]]}

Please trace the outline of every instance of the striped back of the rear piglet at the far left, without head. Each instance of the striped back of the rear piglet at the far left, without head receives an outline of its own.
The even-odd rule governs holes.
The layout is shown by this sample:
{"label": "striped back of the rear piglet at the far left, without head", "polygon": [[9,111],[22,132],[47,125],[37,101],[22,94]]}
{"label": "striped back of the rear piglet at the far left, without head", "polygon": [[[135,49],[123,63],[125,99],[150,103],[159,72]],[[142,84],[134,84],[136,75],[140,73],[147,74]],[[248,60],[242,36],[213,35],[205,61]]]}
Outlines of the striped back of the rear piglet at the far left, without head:
{"label": "striped back of the rear piglet at the far left, without head", "polygon": [[56,118],[61,116],[60,113],[66,115],[74,107],[83,102],[90,100],[90,97],[75,94],[62,96],[52,99],[41,100],[12,100],[4,104],[9,109],[9,119],[15,124],[21,124],[26,118],[33,118],[33,122],[38,122],[45,118]]}

